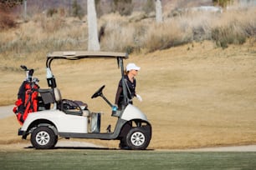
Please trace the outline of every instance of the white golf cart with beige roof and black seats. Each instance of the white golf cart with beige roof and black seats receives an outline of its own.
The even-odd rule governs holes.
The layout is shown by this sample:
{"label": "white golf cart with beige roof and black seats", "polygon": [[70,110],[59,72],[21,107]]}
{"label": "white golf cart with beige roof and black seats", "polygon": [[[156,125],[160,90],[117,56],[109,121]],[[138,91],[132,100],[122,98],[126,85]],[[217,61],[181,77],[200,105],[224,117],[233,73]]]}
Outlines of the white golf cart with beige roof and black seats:
{"label": "white golf cart with beige roof and black seats", "polygon": [[[102,97],[110,106],[112,117],[117,117],[114,132],[100,133],[100,112],[90,112],[87,104],[63,99],[52,73],[51,63],[55,59],[79,60],[86,58],[109,58],[117,60],[120,67],[124,104],[117,108],[103,94],[102,86],[91,98]],[[151,141],[151,123],[146,115],[129,104],[125,86],[123,60],[128,55],[121,52],[50,52],[46,60],[48,89],[38,88],[38,110],[30,112],[18,129],[18,135],[26,139],[31,134],[33,148],[54,148],[58,138],[91,138],[120,140],[120,148],[146,149]],[[50,107],[52,106],[52,107]],[[100,109],[100,108],[99,108]]]}

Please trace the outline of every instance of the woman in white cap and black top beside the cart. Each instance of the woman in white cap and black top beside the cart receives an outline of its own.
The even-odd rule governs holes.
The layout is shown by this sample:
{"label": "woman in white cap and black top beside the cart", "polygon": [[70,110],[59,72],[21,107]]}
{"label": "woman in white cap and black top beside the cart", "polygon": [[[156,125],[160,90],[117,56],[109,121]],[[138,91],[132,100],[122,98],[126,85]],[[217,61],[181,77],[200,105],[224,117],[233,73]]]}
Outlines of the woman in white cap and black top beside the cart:
{"label": "woman in white cap and black top beside the cart", "polygon": [[[137,97],[139,101],[142,101],[140,95],[136,94],[136,75],[141,67],[136,66],[135,63],[128,63],[125,70],[125,85],[127,87],[127,96],[129,97],[129,103],[132,104],[132,98]],[[120,80],[117,92],[115,95],[115,104],[120,109],[124,103],[122,81]]]}

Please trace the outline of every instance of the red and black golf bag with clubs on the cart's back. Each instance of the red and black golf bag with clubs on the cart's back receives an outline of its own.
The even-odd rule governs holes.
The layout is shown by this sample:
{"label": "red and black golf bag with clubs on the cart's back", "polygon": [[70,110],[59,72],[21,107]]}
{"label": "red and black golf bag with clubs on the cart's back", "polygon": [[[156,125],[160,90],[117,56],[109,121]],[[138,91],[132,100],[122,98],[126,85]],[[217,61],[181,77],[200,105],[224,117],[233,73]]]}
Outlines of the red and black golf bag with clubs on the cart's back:
{"label": "red and black golf bag with clubs on the cart's back", "polygon": [[15,102],[15,107],[13,107],[13,112],[21,125],[28,117],[29,112],[38,111],[38,78],[34,77],[32,79],[33,69],[25,68],[23,69],[27,72],[27,78],[19,87],[18,100]]}

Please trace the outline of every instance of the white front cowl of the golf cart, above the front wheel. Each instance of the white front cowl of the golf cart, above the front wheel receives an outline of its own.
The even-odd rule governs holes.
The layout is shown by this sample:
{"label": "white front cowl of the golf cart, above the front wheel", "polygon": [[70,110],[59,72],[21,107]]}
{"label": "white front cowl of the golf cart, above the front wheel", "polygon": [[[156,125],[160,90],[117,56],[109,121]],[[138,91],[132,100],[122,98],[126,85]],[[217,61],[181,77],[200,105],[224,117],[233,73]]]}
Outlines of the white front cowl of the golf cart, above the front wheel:
{"label": "white front cowl of the golf cart, above the front wheel", "polygon": [[143,112],[141,112],[139,108],[131,104],[129,104],[125,108],[125,111],[123,112],[123,115],[121,118],[126,121],[130,121],[131,119],[141,119],[141,120],[147,121],[146,115]]}

